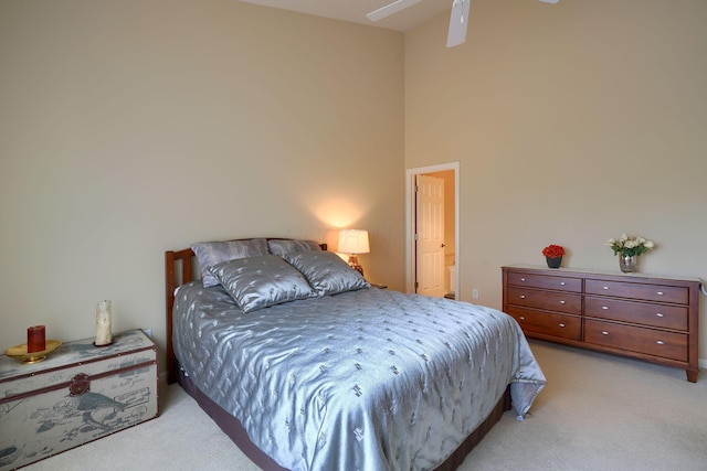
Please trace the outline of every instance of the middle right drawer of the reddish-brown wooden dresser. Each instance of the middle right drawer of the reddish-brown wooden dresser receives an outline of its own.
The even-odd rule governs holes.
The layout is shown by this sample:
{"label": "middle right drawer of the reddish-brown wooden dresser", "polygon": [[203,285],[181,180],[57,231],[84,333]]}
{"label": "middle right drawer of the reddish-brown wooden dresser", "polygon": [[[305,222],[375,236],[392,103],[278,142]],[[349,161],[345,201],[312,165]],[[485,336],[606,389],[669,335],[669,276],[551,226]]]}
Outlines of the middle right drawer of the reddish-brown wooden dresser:
{"label": "middle right drawer of the reddish-brown wooden dresser", "polygon": [[584,298],[584,315],[687,332],[687,308],[624,301],[611,298]]}

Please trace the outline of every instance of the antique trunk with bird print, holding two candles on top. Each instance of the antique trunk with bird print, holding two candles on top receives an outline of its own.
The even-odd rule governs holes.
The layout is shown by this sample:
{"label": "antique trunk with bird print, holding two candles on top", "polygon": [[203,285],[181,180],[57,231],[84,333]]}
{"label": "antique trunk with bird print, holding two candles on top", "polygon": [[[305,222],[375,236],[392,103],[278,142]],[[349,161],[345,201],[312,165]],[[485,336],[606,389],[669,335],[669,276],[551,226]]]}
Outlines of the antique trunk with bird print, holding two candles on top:
{"label": "antique trunk with bird print, holding two candles on top", "polygon": [[107,346],[93,341],[64,343],[36,363],[0,357],[0,471],[157,417],[157,346],[140,330]]}

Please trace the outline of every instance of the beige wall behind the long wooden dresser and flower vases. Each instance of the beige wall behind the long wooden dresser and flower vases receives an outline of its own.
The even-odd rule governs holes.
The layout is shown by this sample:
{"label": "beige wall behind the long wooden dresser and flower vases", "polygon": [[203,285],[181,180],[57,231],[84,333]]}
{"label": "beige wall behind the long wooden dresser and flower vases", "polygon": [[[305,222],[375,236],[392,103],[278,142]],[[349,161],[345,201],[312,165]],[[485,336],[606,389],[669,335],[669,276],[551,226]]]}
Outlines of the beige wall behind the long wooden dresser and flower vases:
{"label": "beige wall behind the long wooden dresser and flower vases", "polygon": [[618,270],[623,232],[642,272],[707,279],[707,2],[477,0],[454,49],[447,21],[405,35],[405,168],[460,161],[463,300],[500,307],[548,244]]}

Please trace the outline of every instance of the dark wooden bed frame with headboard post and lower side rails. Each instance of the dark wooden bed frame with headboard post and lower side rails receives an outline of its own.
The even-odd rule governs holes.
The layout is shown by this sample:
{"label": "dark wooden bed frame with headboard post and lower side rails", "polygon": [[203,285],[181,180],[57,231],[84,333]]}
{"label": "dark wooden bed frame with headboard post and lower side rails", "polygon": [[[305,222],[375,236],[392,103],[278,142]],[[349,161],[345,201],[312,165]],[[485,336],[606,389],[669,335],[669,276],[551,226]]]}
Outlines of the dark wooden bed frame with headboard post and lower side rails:
{"label": "dark wooden bed frame with headboard post and lower side rails", "polygon": [[[326,250],[326,244],[321,244],[321,248]],[[197,404],[199,404],[199,406],[231,438],[241,451],[261,469],[265,471],[287,471],[251,441],[245,429],[235,417],[231,416],[218,404],[212,402],[180,371],[179,362],[175,356],[172,343],[172,308],[175,307],[175,289],[180,285],[199,278],[201,277],[200,274],[197,272],[196,256],[191,248],[168,250],[165,253],[167,382],[168,384],[178,382],[180,386],[197,400]],[[510,409],[510,386],[508,386],[488,417],[474,431],[472,431],[468,437],[466,437],[452,456],[437,467],[435,471],[453,471],[457,469],[474,447],[482,441],[494,425],[500,420],[504,413]]]}

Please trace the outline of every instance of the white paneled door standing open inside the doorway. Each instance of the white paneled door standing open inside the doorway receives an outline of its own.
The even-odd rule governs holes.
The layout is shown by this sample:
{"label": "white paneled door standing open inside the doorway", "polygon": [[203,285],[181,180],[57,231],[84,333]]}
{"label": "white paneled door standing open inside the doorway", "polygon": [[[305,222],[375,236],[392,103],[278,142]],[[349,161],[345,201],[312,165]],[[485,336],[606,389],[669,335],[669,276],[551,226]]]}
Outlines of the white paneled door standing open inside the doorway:
{"label": "white paneled door standing open inside the doorway", "polygon": [[416,289],[444,296],[444,179],[415,175]]}

